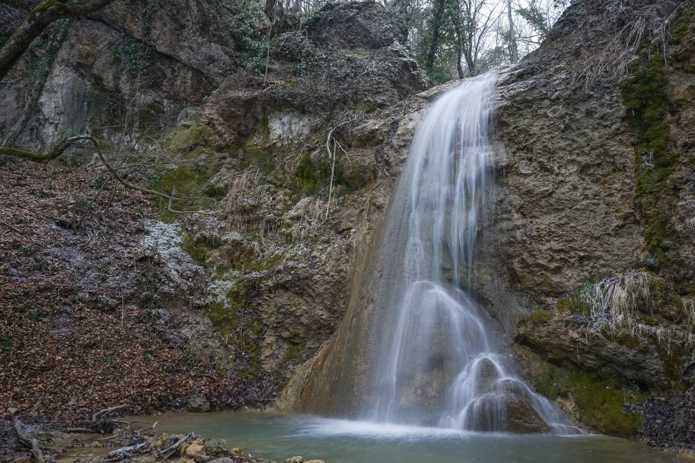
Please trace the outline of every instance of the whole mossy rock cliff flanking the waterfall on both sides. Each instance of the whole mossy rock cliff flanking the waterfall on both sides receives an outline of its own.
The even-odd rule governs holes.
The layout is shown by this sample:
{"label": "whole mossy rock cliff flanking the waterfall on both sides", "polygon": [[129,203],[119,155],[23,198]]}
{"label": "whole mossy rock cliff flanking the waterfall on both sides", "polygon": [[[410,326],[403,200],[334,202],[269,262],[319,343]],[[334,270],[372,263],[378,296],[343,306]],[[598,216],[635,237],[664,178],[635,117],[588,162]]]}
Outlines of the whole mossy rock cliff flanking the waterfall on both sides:
{"label": "whole mossy rock cliff flanking the waterfall on both sides", "polygon": [[[254,45],[257,11],[190,3],[115,1],[57,24],[3,81],[0,135],[40,149],[87,131],[140,154],[176,153],[133,178],[175,187],[186,208],[215,215],[165,205],[133,215],[140,226],[119,246],[145,249],[145,235],[169,233],[176,250],[135,253],[156,262],[154,279],[138,276],[149,305],[136,296],[141,279],[119,280],[126,264],[108,264],[113,284],[82,302],[98,307],[104,296],[113,312],[125,300],[140,318],[155,309],[170,321],[165,337],[205,371],[245,378],[263,401],[287,385],[284,409],[329,411],[339,389],[317,382],[318,371],[359,369],[369,355],[335,351],[368,312],[355,309],[365,301],[353,289],[418,121],[457,84],[426,90],[407,29],[377,3],[332,3],[284,24],[267,55]],[[10,22],[24,14],[0,8]],[[695,416],[692,8],[583,0],[537,51],[499,70],[495,183],[471,287],[521,372],[573,418],[614,435],[641,430],[658,445],[673,444],[659,426],[673,419],[670,438],[684,447]],[[22,226],[7,198],[3,221]],[[74,242],[86,232],[51,233]],[[22,254],[13,239],[3,245]],[[54,258],[76,266],[67,253]],[[181,286],[193,278],[181,269],[196,288]],[[15,271],[5,266],[3,278],[25,278]],[[63,316],[76,317],[60,309],[50,320]]]}

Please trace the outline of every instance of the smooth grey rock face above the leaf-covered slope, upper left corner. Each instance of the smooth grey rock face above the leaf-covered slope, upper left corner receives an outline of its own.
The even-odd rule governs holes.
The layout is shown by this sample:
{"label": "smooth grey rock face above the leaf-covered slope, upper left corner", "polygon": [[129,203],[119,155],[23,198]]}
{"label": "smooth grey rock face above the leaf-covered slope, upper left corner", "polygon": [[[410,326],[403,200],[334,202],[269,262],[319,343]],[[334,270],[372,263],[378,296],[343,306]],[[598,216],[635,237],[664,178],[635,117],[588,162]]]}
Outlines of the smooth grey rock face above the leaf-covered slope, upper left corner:
{"label": "smooth grey rock face above the leaf-covered slope, upper left corner", "polygon": [[[11,10],[10,19],[26,16],[2,8]],[[210,28],[214,21],[220,30],[236,31],[236,12],[229,8],[222,2],[189,9],[163,0],[115,1],[63,35],[51,31],[57,50],[49,40],[35,40],[41,66],[20,67],[0,88],[8,104],[0,115],[3,143],[9,137],[40,149],[66,132],[108,135],[117,131],[113,118],[133,103],[149,108],[142,122],[155,131],[174,126],[181,110],[200,103],[240,66],[234,34]]]}

